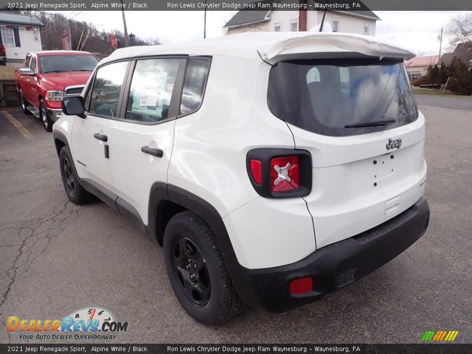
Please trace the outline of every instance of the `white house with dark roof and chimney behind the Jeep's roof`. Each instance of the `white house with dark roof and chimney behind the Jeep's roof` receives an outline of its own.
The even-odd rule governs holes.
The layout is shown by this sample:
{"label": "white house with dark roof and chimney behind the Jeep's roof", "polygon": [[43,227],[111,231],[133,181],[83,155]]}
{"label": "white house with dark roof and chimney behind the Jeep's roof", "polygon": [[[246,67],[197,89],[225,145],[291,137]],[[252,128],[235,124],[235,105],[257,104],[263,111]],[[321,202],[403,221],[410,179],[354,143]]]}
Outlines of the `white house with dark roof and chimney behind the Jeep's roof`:
{"label": "white house with dark roof and chimney behind the Jeep's roof", "polygon": [[[312,0],[307,0],[308,2]],[[272,3],[274,0],[258,2]],[[319,27],[324,11],[274,10],[238,11],[224,26],[228,34],[259,31],[306,31]],[[376,21],[380,18],[370,10],[326,11],[324,23],[329,23],[335,32],[350,32],[375,35]]]}

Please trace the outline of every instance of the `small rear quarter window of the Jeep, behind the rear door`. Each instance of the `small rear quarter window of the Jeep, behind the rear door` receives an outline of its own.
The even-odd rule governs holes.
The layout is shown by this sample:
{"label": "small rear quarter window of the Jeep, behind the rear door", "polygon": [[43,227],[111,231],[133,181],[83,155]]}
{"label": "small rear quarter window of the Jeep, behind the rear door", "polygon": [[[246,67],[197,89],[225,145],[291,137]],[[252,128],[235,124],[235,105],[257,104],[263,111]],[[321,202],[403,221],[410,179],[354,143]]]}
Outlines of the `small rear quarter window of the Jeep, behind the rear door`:
{"label": "small rear quarter window of the Jeep, behind the rear door", "polygon": [[207,59],[189,59],[180,103],[180,114],[189,114],[200,108],[205,93],[208,69]]}

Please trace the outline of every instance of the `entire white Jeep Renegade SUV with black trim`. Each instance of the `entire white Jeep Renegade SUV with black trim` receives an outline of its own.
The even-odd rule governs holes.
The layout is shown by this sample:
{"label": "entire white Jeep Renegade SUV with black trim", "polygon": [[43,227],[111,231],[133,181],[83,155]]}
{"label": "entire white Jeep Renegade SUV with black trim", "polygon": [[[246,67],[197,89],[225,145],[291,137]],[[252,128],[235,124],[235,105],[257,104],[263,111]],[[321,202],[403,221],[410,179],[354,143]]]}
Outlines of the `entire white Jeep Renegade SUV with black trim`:
{"label": "entire white Jeep Renegade SUV with black trim", "polygon": [[163,245],[198,321],[323,298],[428,226],[411,57],[325,32],[117,50],[62,99],[65,191],[98,196]]}

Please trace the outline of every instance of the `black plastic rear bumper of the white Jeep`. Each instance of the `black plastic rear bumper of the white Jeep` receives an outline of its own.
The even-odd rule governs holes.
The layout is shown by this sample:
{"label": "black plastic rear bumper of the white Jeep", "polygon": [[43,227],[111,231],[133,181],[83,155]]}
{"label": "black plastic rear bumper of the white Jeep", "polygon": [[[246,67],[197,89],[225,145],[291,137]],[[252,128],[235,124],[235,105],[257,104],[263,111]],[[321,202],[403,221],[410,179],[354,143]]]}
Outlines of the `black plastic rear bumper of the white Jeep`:
{"label": "black plastic rear bumper of the white Jeep", "polygon": [[[238,295],[248,305],[270,312],[284,312],[319,300],[398,256],[425,233],[428,222],[429,206],[421,198],[393,219],[325,246],[294,264],[239,269],[237,283],[244,284],[244,288],[238,287]],[[313,278],[313,290],[303,295],[292,295],[290,282],[302,277]]]}

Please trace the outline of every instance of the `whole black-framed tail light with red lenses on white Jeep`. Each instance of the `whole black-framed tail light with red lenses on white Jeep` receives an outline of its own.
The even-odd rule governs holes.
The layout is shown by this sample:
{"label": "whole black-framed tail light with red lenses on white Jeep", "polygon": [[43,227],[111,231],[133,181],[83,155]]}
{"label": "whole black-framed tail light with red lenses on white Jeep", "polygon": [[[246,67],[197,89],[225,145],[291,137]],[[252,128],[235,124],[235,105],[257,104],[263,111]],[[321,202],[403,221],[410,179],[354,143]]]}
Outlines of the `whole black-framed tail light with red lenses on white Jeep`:
{"label": "whole black-framed tail light with red lenses on white Jeep", "polygon": [[248,151],[246,166],[252,186],[265,198],[300,197],[311,191],[312,164],[308,151],[255,148]]}

